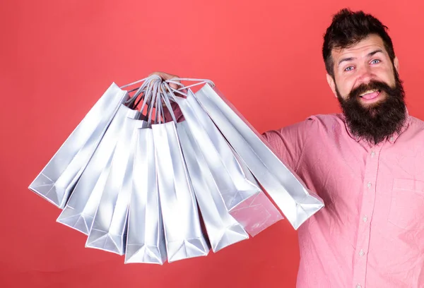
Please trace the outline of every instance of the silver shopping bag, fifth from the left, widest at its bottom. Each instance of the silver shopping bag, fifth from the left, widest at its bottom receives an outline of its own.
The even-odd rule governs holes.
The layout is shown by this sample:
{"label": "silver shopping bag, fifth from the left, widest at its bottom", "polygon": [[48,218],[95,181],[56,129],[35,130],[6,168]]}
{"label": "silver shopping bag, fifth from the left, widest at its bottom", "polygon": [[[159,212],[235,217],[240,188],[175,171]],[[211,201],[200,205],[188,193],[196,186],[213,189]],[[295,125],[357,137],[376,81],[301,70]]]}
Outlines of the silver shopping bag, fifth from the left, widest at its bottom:
{"label": "silver shopping bag, fifth from the left, widest at its bottom", "polygon": [[206,256],[208,243],[187,174],[175,122],[152,125],[167,260]]}

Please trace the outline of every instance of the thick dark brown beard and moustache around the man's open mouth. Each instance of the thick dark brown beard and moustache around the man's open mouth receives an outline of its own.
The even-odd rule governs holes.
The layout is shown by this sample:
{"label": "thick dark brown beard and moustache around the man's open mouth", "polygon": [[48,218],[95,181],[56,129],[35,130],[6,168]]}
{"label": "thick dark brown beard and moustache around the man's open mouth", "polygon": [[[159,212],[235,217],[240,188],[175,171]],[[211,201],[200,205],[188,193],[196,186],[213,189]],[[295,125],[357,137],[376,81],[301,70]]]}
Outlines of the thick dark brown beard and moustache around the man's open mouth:
{"label": "thick dark brown beard and moustache around the man's open mouth", "polygon": [[[354,88],[346,100],[341,97],[336,87],[338,102],[346,117],[346,124],[354,136],[377,145],[401,131],[406,121],[405,92],[396,71],[394,76],[393,88],[384,82],[371,80],[370,83]],[[361,104],[359,95],[367,90],[379,90],[380,93],[384,93],[384,97],[365,106]]]}

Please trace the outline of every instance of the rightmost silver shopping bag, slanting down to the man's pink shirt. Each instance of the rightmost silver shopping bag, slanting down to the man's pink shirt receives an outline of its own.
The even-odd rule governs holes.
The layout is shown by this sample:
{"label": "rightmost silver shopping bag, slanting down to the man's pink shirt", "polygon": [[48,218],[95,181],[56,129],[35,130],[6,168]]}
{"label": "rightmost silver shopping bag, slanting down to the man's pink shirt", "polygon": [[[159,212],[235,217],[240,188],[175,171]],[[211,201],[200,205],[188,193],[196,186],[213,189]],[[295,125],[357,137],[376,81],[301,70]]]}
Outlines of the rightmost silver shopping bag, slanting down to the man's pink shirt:
{"label": "rightmost silver shopping bag, slanting down to the man's pink shirt", "polygon": [[295,229],[324,207],[216,88],[206,84],[195,96]]}

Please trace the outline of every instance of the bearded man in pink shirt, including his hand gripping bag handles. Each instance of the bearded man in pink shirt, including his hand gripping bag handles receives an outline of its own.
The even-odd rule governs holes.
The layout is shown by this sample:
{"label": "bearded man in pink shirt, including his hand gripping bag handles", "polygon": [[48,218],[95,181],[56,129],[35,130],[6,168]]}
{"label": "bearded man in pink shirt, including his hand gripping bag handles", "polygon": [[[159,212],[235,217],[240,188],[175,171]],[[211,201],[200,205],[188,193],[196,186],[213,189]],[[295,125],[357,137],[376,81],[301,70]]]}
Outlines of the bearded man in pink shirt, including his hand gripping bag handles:
{"label": "bearded man in pink shirt, including his hand gripping bag handles", "polygon": [[264,133],[326,205],[298,230],[297,287],[422,288],[424,122],[406,109],[387,27],[343,9],[322,54],[343,113]]}

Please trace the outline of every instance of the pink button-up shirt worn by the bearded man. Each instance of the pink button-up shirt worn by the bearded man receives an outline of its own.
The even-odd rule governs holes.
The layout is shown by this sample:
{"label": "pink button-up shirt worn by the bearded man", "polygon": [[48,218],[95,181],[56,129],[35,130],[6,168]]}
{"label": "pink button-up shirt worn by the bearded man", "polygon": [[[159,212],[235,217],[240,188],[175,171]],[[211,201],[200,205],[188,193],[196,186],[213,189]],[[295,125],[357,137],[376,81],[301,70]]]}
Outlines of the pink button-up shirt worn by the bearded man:
{"label": "pink button-up shirt worn by the bearded man", "polygon": [[379,145],[342,114],[264,133],[326,207],[298,229],[298,288],[424,287],[424,122]]}

